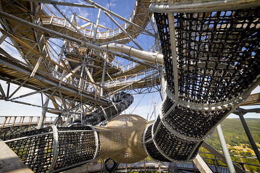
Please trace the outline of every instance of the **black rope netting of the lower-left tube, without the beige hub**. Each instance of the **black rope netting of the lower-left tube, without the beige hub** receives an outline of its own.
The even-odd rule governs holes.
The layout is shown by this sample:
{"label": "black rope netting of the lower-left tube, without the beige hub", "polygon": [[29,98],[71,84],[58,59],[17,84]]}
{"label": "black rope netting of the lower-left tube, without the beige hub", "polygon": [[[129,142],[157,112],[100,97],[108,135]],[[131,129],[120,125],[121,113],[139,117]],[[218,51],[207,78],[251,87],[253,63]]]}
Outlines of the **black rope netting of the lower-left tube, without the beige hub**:
{"label": "black rope netting of the lower-left tube, without the beige hub", "polygon": [[[91,127],[57,128],[57,132],[57,141],[52,127],[10,134],[1,139],[34,172],[47,172],[51,164],[55,172],[93,161],[97,143]],[[8,141],[11,139],[16,140]],[[58,154],[56,158],[55,152]]]}

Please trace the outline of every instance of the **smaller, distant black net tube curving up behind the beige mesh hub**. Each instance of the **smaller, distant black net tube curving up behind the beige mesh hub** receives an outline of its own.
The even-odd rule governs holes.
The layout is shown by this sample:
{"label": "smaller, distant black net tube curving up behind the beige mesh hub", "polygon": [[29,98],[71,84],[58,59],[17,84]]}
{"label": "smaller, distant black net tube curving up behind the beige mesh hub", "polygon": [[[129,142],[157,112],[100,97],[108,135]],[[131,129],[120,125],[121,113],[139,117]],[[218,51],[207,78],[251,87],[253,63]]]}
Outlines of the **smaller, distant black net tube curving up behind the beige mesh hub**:
{"label": "smaller, distant black net tube curving up behind the beige mesh hub", "polygon": [[[96,111],[84,116],[82,124],[96,126],[102,121],[111,120],[126,110],[134,102],[134,97],[126,92],[120,92],[114,95],[113,101],[106,106],[100,106]],[[76,119],[70,126],[81,126],[81,119]]]}

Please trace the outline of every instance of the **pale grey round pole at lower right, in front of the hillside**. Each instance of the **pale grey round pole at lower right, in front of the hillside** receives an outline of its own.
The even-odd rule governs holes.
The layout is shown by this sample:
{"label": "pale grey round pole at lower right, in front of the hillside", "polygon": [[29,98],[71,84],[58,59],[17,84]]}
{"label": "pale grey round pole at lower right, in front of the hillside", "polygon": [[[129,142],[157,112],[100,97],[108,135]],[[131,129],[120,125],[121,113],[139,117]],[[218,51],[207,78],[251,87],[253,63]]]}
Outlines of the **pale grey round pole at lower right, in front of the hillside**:
{"label": "pale grey round pole at lower right, in front of the hillside", "polygon": [[221,126],[218,125],[216,129],[217,129],[217,132],[218,132],[219,141],[220,141],[220,144],[221,144],[221,147],[222,147],[222,151],[223,151],[223,154],[224,154],[226,162],[227,162],[228,170],[229,170],[230,173],[235,173],[234,165],[232,163],[229,152],[227,150],[227,144],[226,144]]}

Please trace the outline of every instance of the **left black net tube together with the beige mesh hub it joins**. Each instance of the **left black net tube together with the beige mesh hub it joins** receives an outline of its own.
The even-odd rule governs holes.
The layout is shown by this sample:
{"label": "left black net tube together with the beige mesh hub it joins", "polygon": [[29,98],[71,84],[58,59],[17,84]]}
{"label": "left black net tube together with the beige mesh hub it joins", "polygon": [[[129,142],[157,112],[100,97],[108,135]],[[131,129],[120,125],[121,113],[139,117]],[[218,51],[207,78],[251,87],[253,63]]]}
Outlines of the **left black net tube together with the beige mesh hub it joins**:
{"label": "left black net tube together with the beige mesh hub it joins", "polygon": [[145,159],[141,141],[147,125],[138,115],[120,115],[105,127],[50,126],[2,139],[34,172],[60,172],[107,158],[121,163]]}

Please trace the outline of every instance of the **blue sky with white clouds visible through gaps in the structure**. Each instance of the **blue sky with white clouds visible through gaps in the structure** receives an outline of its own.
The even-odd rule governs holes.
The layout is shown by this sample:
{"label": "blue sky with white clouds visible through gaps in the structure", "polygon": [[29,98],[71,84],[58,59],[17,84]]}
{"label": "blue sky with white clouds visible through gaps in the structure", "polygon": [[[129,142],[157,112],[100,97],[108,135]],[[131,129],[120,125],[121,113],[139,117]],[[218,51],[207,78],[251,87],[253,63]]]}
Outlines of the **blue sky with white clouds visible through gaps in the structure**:
{"label": "blue sky with white clouds visible through gaps in the structure", "polygon": [[[79,0],[78,1],[66,0],[66,2],[87,4],[86,2],[79,1]],[[122,17],[128,18],[133,11],[135,1],[119,1],[119,0],[101,1],[101,0],[99,0],[99,1],[95,1],[95,2],[97,4],[105,7],[105,8],[111,9],[111,11],[121,15]],[[58,15],[59,17],[62,17],[52,5],[48,5],[48,7],[56,15]],[[67,17],[71,16],[72,12],[76,12],[77,15],[81,15],[85,18],[88,18],[91,21],[97,20],[97,15],[98,15],[98,11],[99,11],[98,9],[76,8],[76,7],[69,7],[68,8],[68,7],[64,7],[64,6],[63,7],[58,6],[58,8],[60,8],[63,11],[63,13],[66,14]],[[44,8],[44,10],[46,12],[50,13],[50,11],[47,8]],[[115,17],[113,17],[113,18],[116,19]],[[116,19],[116,21],[119,22],[120,24],[124,23],[123,21],[121,21],[119,19]],[[84,24],[83,20],[81,20],[79,18],[77,18],[77,22],[80,25]],[[112,23],[112,21],[103,12],[101,12],[100,24],[102,24],[106,28],[108,28],[108,27],[111,28],[111,29],[117,28],[115,26],[115,24]],[[59,40],[59,39],[52,39],[52,41],[55,42],[58,45],[62,44],[62,40]],[[149,48],[154,43],[154,39],[152,37],[149,37],[149,36],[143,35],[143,34],[140,34],[139,37],[136,39],[136,41],[146,51],[148,51]],[[130,42],[129,45],[135,46],[133,44],[133,42]],[[7,50],[7,52],[12,52],[12,55],[15,58],[22,60],[21,57],[19,56],[19,54],[17,53],[17,51],[15,52],[13,50],[13,47],[10,47],[10,45],[8,45],[6,42],[2,43],[1,47],[4,48],[5,50]],[[58,46],[54,45],[54,44],[53,44],[53,47],[56,50],[56,52],[59,53],[60,48]],[[124,60],[124,59],[121,59],[121,58],[116,57],[115,59],[122,64],[128,64],[129,63],[127,60]],[[1,80],[0,80],[0,83],[3,86],[4,90],[6,91],[7,90],[6,83],[4,81],[1,81]],[[11,88],[10,88],[11,91],[10,92],[12,93],[12,91],[14,91],[16,89],[16,87],[17,87],[16,85],[11,84]],[[152,90],[152,91],[155,91],[155,89]],[[32,90],[22,87],[19,90],[19,92],[17,92],[14,95],[14,97],[22,95],[22,94],[29,93],[29,92],[32,92]],[[256,92],[260,92],[260,87],[257,87],[253,91],[253,93],[256,93]],[[43,100],[45,100],[45,98]],[[34,105],[41,105],[40,94],[35,94],[35,95],[29,96],[29,97],[20,98],[18,101],[28,102],[28,103],[31,103],[31,104],[34,104]],[[159,106],[161,104],[161,99],[160,99],[160,95],[159,95],[158,92],[152,92],[152,93],[146,94],[145,96],[143,94],[139,94],[139,95],[135,94],[133,104],[123,113],[137,114],[137,115],[144,117],[145,119],[147,119],[147,116],[149,116],[148,120],[150,119],[150,117],[151,117],[150,120],[153,120],[154,115],[151,116],[151,114],[153,112],[153,102],[155,102],[157,104],[156,114],[158,115]],[[49,106],[51,106],[51,105],[52,104],[50,104]],[[249,108],[249,107],[246,107],[246,108]],[[11,103],[11,102],[0,101],[0,116],[3,116],[3,115],[39,116],[40,114],[41,114],[41,108],[26,106],[26,105]],[[47,116],[53,116],[53,114],[47,113]],[[237,117],[238,116],[234,115],[234,114],[231,114],[231,115],[228,116],[228,118],[237,118]],[[245,117],[259,118],[259,115],[256,114],[256,113],[248,113],[248,114],[245,115]]]}

